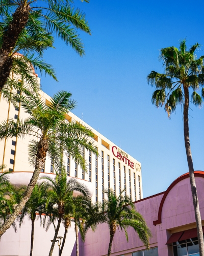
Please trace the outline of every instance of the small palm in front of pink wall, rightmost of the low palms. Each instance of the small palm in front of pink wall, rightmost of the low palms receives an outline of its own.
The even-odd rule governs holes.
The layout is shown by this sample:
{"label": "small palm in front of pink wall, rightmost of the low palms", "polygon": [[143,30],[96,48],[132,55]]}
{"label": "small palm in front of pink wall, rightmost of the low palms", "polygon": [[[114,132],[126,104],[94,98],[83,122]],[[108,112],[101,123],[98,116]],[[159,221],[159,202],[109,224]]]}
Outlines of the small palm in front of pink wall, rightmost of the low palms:
{"label": "small palm in front of pink wall, rightmost of the low palms", "polygon": [[127,228],[133,227],[138,233],[139,239],[144,243],[146,248],[149,248],[149,238],[151,237],[151,231],[148,228],[144,218],[138,211],[135,210],[133,201],[129,196],[123,196],[121,191],[119,196],[116,196],[112,189],[105,190],[105,194],[108,195],[108,200],[104,200],[102,203],[102,212],[104,219],[100,222],[105,222],[109,226],[110,230],[110,242],[108,248],[108,256],[111,255],[111,247],[116,229],[124,229],[125,237],[128,242]]}

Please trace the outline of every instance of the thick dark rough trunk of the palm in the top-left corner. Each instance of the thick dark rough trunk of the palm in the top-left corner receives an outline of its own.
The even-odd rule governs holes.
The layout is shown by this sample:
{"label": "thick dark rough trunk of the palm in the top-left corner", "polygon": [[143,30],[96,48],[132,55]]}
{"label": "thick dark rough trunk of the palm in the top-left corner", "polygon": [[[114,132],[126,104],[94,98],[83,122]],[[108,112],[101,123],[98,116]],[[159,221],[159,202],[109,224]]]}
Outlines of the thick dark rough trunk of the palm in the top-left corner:
{"label": "thick dark rough trunk of the palm in the top-left corner", "polygon": [[4,32],[3,45],[0,49],[0,92],[10,76],[12,68],[11,53],[16,45],[19,34],[29,19],[29,6],[19,6],[13,13],[13,19],[8,29]]}

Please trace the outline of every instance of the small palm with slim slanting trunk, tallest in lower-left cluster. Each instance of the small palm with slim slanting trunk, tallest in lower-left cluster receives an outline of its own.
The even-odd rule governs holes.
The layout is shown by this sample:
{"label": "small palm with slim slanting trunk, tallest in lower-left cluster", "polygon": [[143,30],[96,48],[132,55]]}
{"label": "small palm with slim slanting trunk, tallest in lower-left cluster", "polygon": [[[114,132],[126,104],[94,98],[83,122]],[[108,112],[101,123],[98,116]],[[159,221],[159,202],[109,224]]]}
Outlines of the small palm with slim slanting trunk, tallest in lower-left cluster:
{"label": "small palm with slim slanting trunk, tallest in lower-left cluster", "polygon": [[61,173],[56,171],[56,177],[54,179],[46,176],[42,177],[42,179],[46,180],[46,182],[44,182],[44,186],[47,190],[46,207],[50,207],[51,205],[53,208],[57,207],[58,211],[58,224],[49,251],[49,256],[52,256],[60,224],[65,214],[65,205],[70,202],[73,191],[79,191],[83,195],[89,195],[89,191],[83,183],[77,182],[74,178],[68,179],[65,169],[61,169]]}

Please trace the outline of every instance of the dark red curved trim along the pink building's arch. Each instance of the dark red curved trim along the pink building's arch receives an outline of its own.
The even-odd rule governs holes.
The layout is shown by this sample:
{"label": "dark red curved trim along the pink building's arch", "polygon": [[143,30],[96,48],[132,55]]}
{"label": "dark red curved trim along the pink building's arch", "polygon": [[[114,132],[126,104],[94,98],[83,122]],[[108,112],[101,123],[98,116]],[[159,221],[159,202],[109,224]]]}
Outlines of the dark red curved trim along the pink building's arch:
{"label": "dark red curved trim along the pink building's arch", "polygon": [[[202,177],[204,178],[204,172],[201,171],[201,170],[195,170],[194,172],[194,176],[195,177]],[[157,224],[161,224],[162,223],[162,208],[163,208],[163,205],[164,205],[164,201],[166,199],[166,197],[168,196],[169,194],[169,191],[177,184],[179,183],[180,181],[184,180],[184,179],[187,179],[189,178],[189,173],[186,173],[186,174],[183,174],[182,176],[180,176],[179,178],[177,178],[176,180],[174,180],[171,185],[167,188],[167,190],[165,191],[164,193],[164,196],[162,198],[162,201],[160,203],[160,207],[159,207],[159,211],[158,211],[158,219],[156,221],[153,221],[153,225],[157,225]]]}

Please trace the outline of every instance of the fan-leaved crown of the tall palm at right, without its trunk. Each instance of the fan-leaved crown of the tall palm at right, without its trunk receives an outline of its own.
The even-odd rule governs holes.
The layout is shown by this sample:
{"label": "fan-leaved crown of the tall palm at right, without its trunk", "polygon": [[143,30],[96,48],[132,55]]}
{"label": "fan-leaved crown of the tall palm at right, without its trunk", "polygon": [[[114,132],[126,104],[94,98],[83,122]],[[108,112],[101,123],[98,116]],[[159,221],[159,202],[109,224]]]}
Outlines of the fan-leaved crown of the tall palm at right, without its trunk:
{"label": "fan-leaved crown of the tall palm at right, without its trunk", "polygon": [[[187,51],[186,40],[180,42],[180,48],[167,47],[160,51],[159,59],[163,61],[165,73],[151,71],[147,82],[157,90],[152,94],[152,103],[165,106],[170,114],[175,111],[177,104],[184,103],[184,89],[192,89],[192,101],[201,105],[204,98],[204,56],[196,58],[195,51],[200,48],[196,43]],[[201,96],[198,94],[201,88]]]}

